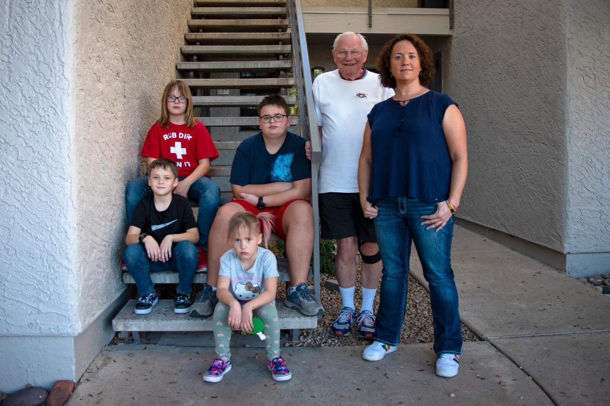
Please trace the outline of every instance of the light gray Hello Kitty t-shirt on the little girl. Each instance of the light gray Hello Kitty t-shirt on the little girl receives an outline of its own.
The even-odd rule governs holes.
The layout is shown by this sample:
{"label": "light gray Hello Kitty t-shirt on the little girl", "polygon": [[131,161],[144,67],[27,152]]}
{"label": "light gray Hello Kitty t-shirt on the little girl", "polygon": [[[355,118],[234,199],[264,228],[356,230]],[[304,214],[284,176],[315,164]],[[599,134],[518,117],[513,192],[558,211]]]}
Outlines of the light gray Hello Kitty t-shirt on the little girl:
{"label": "light gray Hello Kitty t-shirt on the little girl", "polygon": [[239,303],[246,303],[265,291],[265,279],[279,276],[278,262],[273,253],[259,247],[256,261],[248,271],[243,270],[242,262],[235,250],[226,251],[220,257],[218,275],[231,279],[229,291]]}

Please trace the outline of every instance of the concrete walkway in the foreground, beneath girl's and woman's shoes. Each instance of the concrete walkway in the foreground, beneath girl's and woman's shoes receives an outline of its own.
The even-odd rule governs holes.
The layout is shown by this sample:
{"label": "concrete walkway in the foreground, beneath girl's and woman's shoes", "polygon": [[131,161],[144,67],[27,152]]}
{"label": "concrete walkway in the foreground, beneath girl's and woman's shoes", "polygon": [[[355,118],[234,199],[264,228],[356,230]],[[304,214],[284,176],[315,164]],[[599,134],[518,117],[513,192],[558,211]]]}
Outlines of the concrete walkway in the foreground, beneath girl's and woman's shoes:
{"label": "concrete walkway in the foreground, beneath girl's and woman's shoes", "polygon": [[[209,384],[212,340],[188,334],[107,346],[68,404],[610,404],[610,298],[464,228],[454,234],[462,321],[486,340],[464,343],[457,377],[434,374],[429,344],[377,363],[361,359],[362,347],[287,348],[293,379],[276,383],[264,349],[235,340],[233,369]],[[412,272],[426,285],[415,255]]]}

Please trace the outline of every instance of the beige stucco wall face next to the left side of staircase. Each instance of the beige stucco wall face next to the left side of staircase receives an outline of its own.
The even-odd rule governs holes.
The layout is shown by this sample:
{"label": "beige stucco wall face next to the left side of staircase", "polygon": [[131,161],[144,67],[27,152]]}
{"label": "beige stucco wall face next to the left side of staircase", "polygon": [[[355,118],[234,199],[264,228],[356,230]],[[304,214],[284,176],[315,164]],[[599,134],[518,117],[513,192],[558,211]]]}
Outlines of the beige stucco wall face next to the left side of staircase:
{"label": "beige stucco wall face next to the left side of staircase", "polygon": [[87,326],[124,289],[124,191],[175,77],[190,0],[79,0],[74,110],[79,313]]}

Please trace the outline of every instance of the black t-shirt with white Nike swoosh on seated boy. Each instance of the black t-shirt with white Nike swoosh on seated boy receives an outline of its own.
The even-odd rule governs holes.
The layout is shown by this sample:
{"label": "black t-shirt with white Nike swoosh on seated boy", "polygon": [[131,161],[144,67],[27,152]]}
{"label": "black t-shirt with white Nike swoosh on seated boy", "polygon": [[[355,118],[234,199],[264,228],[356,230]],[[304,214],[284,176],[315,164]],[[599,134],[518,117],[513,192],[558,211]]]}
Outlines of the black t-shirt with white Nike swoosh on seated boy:
{"label": "black t-shirt with white Nike swoosh on seated boy", "polygon": [[197,227],[187,198],[175,193],[171,195],[170,206],[163,211],[157,211],[152,195],[140,200],[131,225],[142,229],[142,233],[150,234],[159,244],[170,234],[182,234],[187,229]]}

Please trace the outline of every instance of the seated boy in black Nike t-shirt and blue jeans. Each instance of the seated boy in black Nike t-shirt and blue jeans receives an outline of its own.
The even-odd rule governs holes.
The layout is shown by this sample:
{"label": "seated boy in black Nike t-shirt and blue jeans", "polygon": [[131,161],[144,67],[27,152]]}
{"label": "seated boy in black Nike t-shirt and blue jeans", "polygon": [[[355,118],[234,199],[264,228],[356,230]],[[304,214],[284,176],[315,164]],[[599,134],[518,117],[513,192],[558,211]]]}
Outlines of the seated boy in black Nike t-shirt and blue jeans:
{"label": "seated boy in black Nike t-shirt and blue jeans", "polygon": [[136,206],[125,237],[125,263],[138,288],[135,313],[150,313],[159,301],[150,273],[162,271],[178,271],[174,312],[187,313],[198,261],[197,223],[187,198],[172,193],[178,168],[170,159],[152,161],[148,184],[153,194]]}

